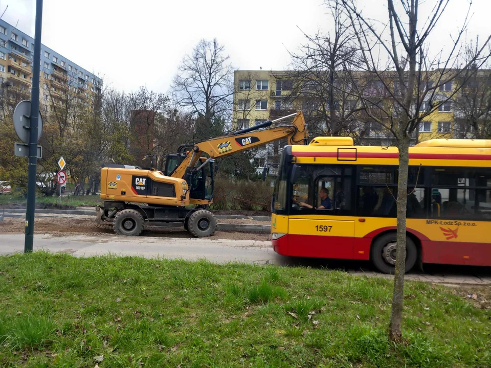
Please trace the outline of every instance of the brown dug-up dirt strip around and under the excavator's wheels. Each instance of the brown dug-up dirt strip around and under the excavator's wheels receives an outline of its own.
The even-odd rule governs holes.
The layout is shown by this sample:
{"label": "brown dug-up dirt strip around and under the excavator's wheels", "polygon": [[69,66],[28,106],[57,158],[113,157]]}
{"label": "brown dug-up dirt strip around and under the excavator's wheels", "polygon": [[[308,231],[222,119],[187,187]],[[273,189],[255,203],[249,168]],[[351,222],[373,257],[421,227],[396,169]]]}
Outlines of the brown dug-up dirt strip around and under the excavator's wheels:
{"label": "brown dug-up dirt strip around and under the excavator's wheels", "polygon": [[[253,223],[253,224],[270,224],[270,222],[254,220],[225,220],[230,223]],[[232,222],[233,221],[233,222]],[[239,222],[240,221],[240,222]],[[250,221],[250,222],[242,222]],[[224,220],[220,220],[224,223]],[[6,218],[0,222],[1,233],[24,233],[25,220],[23,218]],[[34,221],[34,229],[38,234],[52,235],[116,235],[111,224],[97,225],[94,220],[87,219],[63,219],[63,218],[38,218]],[[167,228],[157,226],[145,226],[141,236],[148,237],[172,237],[172,238],[192,238],[184,228]],[[237,240],[267,240],[269,234],[264,233],[238,233],[217,231],[209,239],[237,239]]]}

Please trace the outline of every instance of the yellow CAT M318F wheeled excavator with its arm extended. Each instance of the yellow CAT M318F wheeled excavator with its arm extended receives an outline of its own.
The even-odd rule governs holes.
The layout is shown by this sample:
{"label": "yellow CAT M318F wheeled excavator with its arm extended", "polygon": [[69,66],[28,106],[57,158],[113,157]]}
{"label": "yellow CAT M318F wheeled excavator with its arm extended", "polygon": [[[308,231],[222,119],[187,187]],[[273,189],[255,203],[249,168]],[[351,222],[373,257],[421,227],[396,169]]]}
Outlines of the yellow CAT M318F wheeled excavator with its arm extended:
{"label": "yellow CAT M318F wheeled excavator with its arm extended", "polygon": [[[291,118],[291,123],[277,124]],[[216,218],[207,208],[213,202],[214,159],[285,138],[288,145],[307,144],[307,137],[303,114],[298,111],[228,135],[181,145],[177,154],[167,155],[163,172],[106,165],[101,169],[104,203],[96,208],[96,223],[113,223],[117,234],[127,236],[140,235],[147,223],[184,225],[195,237],[211,236]]]}

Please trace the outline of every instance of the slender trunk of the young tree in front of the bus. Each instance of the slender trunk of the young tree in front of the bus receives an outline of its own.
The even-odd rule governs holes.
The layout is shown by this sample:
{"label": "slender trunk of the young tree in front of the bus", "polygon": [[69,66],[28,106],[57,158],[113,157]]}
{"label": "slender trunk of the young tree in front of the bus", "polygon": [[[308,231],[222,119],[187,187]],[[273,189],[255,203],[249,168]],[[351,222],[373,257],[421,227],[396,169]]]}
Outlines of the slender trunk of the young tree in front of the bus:
{"label": "slender trunk of the young tree in front of the bus", "polygon": [[404,274],[406,268],[406,205],[408,201],[409,136],[399,141],[399,178],[397,182],[397,248],[394,273],[394,293],[390,312],[389,338],[400,341],[403,317]]}

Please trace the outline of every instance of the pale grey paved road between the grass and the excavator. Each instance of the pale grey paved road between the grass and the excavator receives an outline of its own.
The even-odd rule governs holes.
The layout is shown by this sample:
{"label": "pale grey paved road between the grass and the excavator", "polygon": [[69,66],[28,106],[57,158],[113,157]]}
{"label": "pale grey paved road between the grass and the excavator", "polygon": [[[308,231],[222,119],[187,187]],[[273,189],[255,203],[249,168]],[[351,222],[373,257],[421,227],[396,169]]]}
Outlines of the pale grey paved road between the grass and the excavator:
{"label": "pale grey paved road between the grass and the excavator", "polygon": [[[145,258],[169,258],[195,261],[207,259],[215,263],[245,262],[275,264],[283,266],[326,267],[344,269],[350,273],[391,278],[374,272],[368,262],[339,261],[325,259],[289,258],[276,254],[271,243],[255,240],[229,240],[206,238],[162,238],[121,236],[34,236],[34,249],[63,252],[77,257],[102,254],[119,256],[141,256]],[[4,233],[0,235],[0,255],[9,255],[24,250],[24,234]],[[467,284],[491,286],[490,267],[425,266],[425,272],[412,272],[407,280],[418,280],[440,284]]]}

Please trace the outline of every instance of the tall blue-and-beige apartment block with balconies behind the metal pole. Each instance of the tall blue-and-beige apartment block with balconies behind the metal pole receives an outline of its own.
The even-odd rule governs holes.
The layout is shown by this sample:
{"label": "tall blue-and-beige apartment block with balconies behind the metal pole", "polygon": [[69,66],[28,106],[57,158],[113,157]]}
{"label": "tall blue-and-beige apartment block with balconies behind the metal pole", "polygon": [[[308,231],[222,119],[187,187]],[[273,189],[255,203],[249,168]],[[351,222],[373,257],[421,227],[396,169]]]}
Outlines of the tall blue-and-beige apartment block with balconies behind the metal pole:
{"label": "tall blue-and-beige apartment block with balconies behind the metal pole", "polygon": [[[34,38],[0,19],[0,83],[17,94],[31,98]],[[90,106],[100,94],[102,79],[63,55],[41,44],[39,97],[41,111],[66,100]]]}

